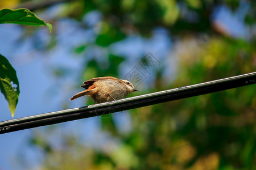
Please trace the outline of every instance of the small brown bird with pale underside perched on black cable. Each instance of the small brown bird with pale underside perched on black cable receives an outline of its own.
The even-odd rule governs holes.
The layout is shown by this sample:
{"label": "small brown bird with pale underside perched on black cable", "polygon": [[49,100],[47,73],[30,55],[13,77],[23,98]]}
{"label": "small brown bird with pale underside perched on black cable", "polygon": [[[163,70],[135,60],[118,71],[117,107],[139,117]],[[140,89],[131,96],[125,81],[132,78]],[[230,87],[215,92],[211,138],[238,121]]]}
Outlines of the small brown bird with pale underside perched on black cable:
{"label": "small brown bird with pale underside perched on black cable", "polygon": [[69,100],[75,100],[78,97],[89,95],[94,101],[94,104],[104,103],[123,99],[131,92],[138,91],[129,81],[121,80],[113,76],[89,79],[85,81],[84,85],[81,87],[84,87],[86,90],[79,92]]}

